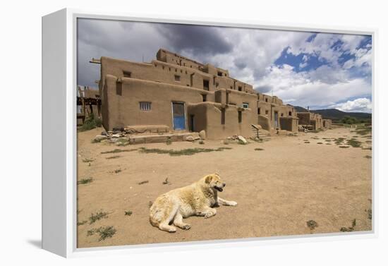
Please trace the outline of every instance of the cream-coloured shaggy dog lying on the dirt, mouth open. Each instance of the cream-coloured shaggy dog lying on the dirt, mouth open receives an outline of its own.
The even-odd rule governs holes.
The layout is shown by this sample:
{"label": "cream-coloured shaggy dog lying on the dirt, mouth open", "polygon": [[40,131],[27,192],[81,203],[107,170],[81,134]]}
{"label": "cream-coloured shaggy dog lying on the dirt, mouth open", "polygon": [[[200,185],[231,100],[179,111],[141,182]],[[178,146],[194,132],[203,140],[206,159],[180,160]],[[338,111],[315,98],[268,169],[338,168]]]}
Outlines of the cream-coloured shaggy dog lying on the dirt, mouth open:
{"label": "cream-coloured shaggy dog lying on the dirt, mouth open", "polygon": [[[188,230],[190,224],[183,222],[183,218],[193,215],[209,218],[217,213],[212,208],[221,203],[226,206],[236,206],[237,202],[219,198],[225,183],[219,174],[209,174],[190,186],[176,188],[160,195],[150,207],[150,222],[162,231],[174,233],[176,227]],[[170,223],[175,226],[170,225]]]}

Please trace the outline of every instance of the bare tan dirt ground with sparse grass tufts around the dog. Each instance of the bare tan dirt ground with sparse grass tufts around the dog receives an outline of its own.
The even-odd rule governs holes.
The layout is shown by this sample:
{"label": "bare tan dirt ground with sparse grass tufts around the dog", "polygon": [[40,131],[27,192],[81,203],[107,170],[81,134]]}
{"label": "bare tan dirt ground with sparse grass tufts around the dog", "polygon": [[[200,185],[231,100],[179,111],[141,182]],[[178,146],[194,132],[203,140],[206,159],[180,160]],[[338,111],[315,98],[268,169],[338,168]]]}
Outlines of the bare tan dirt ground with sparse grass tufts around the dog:
{"label": "bare tan dirt ground with sparse grass tufts around the dog", "polygon": [[[248,145],[205,140],[204,145],[178,142],[126,147],[91,143],[101,131],[78,133],[78,181],[92,178],[90,183],[78,184],[78,248],[338,233],[342,227],[372,229],[372,151],[334,143],[334,138],[356,136],[363,147],[370,147],[371,139],[349,128],[276,136]],[[170,156],[133,150],[140,147],[231,150]],[[264,150],[255,150],[259,147]],[[101,153],[114,149],[130,151]],[[217,215],[210,219],[189,217],[185,219],[191,224],[188,231],[169,234],[151,226],[150,201],[214,172],[226,182],[220,196],[238,202],[236,207],[217,207]],[[163,184],[166,178],[169,184]],[[139,184],[143,181],[148,182]],[[90,224],[90,216],[97,212],[107,214]],[[310,220],[317,223],[315,229],[308,227]],[[116,233],[101,241],[98,233],[88,234],[101,226],[114,226]]]}

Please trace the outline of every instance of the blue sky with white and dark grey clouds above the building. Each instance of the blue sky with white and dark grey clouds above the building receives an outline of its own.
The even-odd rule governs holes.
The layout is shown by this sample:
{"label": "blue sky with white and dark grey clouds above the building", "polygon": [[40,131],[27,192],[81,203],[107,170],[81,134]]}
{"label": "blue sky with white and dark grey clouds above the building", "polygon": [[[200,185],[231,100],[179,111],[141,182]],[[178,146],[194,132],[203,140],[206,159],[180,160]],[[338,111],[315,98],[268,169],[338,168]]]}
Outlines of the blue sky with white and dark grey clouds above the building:
{"label": "blue sky with white and dark grey clouds above the building", "polygon": [[368,35],[78,20],[78,84],[95,85],[92,58],[152,61],[159,48],[226,68],[257,92],[310,109],[372,108]]}

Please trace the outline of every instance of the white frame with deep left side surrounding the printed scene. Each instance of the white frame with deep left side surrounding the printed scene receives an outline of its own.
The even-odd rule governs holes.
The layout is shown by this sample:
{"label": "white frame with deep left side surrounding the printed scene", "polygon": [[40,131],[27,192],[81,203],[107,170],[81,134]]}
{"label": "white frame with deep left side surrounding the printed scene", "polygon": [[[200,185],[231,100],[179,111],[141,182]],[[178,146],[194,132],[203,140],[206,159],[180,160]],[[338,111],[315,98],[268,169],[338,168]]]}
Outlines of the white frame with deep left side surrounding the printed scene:
{"label": "white frame with deep left side surrounding the printed scene", "polygon": [[[157,243],[101,248],[76,246],[76,36],[77,18],[150,21],[197,25],[222,25],[271,30],[298,30],[372,35],[372,98],[375,87],[376,29],[325,27],[315,25],[257,23],[256,21],[203,20],[199,18],[140,18],[126,13],[101,13],[62,9],[42,18],[42,248],[63,257],[101,255],[105,253],[147,253],[164,250],[188,250],[209,247],[258,246],[272,243],[334,241],[343,238],[375,238],[378,235],[377,176],[372,171],[372,231],[303,236],[241,238],[222,241]],[[378,130],[377,101],[372,107],[372,169],[376,169]]]}

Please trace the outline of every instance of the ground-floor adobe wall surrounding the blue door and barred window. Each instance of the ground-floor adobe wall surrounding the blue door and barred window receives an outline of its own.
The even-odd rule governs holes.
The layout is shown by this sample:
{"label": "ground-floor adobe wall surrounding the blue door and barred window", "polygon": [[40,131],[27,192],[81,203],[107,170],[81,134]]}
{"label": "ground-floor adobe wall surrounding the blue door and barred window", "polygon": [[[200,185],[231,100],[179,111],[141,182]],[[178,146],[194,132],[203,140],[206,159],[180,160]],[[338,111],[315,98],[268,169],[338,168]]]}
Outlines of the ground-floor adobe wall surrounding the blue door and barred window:
{"label": "ground-floor adobe wall surrounding the blue door and barred window", "polygon": [[[133,125],[166,125],[172,130],[171,102],[186,104],[187,130],[187,104],[202,102],[202,90],[134,78],[121,78],[120,83],[114,75],[107,75],[104,92],[106,130]],[[140,110],[139,102],[151,102],[150,111]]]}

